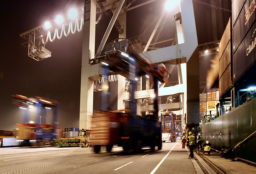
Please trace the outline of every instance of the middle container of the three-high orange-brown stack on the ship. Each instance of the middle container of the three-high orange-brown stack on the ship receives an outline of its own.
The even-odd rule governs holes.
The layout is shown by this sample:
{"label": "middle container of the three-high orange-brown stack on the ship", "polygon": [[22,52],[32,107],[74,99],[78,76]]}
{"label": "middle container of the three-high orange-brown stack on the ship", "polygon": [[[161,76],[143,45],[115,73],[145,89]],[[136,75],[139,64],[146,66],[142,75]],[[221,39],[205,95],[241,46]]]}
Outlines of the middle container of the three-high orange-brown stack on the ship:
{"label": "middle container of the three-high orange-brown stack on the ship", "polygon": [[231,42],[228,43],[224,53],[220,57],[219,61],[219,77],[222,76],[226,68],[229,66],[231,61],[231,48],[230,48]]}

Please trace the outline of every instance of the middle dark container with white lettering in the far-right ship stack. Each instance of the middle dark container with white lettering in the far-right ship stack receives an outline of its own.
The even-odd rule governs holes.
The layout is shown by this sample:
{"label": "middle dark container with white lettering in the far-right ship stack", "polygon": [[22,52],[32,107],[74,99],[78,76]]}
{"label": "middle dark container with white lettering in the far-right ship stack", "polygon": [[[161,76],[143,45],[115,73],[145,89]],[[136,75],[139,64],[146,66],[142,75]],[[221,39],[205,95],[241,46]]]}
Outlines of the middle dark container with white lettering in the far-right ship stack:
{"label": "middle dark container with white lettering in the far-right ship stack", "polygon": [[248,0],[233,26],[233,53],[235,53],[241,44],[242,40],[245,38],[247,33],[250,31],[251,27],[255,23],[256,5],[255,0]]}

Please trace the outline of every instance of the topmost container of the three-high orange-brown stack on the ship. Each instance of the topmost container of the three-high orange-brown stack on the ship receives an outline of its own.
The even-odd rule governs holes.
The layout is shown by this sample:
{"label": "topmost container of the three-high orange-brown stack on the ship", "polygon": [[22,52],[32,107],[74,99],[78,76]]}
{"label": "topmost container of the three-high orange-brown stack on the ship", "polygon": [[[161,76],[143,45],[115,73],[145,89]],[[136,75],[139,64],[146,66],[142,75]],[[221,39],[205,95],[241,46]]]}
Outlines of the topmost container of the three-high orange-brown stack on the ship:
{"label": "topmost container of the three-high orange-brown stack on the ship", "polygon": [[231,26],[231,19],[229,18],[226,29],[220,39],[220,44],[219,44],[219,59],[224,53],[224,50],[226,49],[227,45],[230,42],[230,36],[231,36],[231,31],[232,31],[232,26]]}

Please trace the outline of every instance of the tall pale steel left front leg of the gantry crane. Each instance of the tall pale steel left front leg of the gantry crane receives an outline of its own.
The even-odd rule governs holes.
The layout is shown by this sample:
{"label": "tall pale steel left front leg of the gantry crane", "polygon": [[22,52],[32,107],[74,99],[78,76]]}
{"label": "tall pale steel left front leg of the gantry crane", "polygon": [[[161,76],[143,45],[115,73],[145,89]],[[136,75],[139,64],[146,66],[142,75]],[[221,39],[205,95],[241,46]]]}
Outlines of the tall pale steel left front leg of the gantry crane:
{"label": "tall pale steel left front leg of the gantry crane", "polygon": [[99,69],[98,64],[94,67],[89,65],[90,54],[95,50],[96,0],[86,1],[84,8],[79,129],[90,130],[94,80],[90,76],[99,74],[95,72]]}

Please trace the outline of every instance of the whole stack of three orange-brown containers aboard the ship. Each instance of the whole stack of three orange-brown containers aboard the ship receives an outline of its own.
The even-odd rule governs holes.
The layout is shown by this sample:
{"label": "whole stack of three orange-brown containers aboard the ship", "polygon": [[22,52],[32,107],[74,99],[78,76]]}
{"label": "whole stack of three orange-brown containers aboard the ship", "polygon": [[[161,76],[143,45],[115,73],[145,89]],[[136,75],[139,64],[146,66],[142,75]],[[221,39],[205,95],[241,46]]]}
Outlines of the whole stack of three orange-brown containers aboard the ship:
{"label": "whole stack of three orange-brown containers aboard the ship", "polygon": [[231,39],[231,19],[229,18],[226,29],[223,33],[223,36],[219,44],[219,87],[220,87],[220,96],[223,95],[232,85],[232,39]]}

